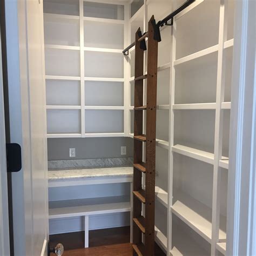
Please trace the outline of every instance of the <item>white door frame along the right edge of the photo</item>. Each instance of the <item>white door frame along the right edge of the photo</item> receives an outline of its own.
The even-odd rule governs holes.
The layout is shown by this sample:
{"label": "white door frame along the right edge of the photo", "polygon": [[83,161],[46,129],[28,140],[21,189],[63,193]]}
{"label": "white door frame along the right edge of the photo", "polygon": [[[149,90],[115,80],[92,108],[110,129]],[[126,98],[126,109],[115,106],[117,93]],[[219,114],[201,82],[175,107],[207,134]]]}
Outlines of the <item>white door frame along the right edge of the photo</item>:
{"label": "white door frame along the right edge of the photo", "polygon": [[[235,2],[226,255],[256,255],[256,3]],[[254,241],[254,242],[253,242]]]}

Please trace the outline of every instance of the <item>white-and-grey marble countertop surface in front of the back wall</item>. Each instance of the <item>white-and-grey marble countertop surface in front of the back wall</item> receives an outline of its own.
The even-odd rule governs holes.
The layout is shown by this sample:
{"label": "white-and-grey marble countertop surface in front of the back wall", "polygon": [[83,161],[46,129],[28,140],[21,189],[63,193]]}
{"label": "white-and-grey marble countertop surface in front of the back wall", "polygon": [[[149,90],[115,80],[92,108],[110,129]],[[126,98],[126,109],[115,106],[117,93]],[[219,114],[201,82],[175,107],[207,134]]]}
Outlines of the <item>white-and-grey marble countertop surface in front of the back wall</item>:
{"label": "white-and-grey marble countertop surface in front of the back wall", "polygon": [[97,169],[75,169],[48,171],[48,180],[87,179],[99,177],[132,176],[133,167],[111,167]]}

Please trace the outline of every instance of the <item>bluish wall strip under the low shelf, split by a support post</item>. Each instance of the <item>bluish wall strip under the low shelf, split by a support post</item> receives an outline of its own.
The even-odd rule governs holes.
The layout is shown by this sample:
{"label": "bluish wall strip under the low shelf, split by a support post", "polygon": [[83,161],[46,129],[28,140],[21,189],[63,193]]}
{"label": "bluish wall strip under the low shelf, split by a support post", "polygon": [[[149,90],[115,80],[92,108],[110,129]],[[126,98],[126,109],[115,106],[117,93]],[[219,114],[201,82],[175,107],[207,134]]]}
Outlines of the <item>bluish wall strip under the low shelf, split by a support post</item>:
{"label": "bluish wall strip under the low shelf, split by a support post", "polygon": [[[130,226],[130,212],[99,214],[89,217],[89,230]],[[50,234],[84,231],[84,217],[49,220]]]}

